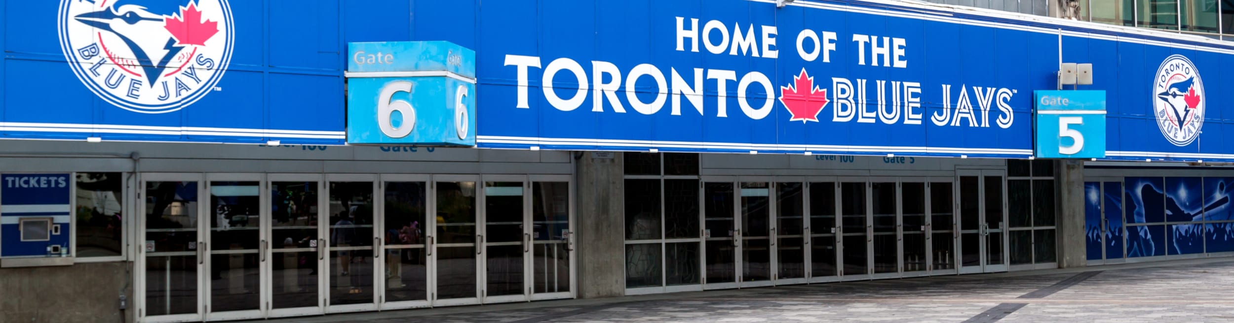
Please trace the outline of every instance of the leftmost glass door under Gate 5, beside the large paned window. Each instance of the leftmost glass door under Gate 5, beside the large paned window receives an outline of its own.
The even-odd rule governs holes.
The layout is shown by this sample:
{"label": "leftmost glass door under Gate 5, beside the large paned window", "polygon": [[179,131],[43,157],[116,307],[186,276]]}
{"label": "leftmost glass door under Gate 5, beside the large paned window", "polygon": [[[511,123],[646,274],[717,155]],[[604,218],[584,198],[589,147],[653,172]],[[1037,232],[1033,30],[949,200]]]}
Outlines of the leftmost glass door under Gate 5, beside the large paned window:
{"label": "leftmost glass door under Gate 5, beside the large paned window", "polygon": [[737,254],[740,240],[732,181],[703,181],[703,288],[737,287]]}

